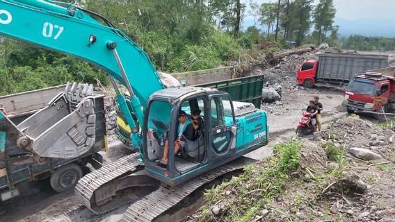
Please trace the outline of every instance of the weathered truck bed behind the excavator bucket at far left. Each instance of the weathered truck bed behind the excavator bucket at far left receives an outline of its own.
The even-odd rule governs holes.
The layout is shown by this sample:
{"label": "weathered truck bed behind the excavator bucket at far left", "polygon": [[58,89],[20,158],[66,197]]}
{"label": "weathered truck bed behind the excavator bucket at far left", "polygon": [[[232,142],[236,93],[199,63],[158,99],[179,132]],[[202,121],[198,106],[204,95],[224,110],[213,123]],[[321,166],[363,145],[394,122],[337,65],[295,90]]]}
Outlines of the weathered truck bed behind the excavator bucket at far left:
{"label": "weathered truck bed behind the excavator bucket at far left", "polygon": [[[64,86],[51,87],[47,89],[24,92],[0,97],[4,111],[8,112],[13,123],[18,124],[24,119],[43,108],[59,92],[64,91]],[[29,98],[31,98],[29,100]],[[20,109],[19,109],[20,108]],[[24,148],[19,148],[13,141],[6,139],[6,174],[0,173],[0,194],[18,187],[24,181],[42,180],[51,176],[54,169],[62,167],[70,162],[82,164],[88,157],[97,155],[106,146],[106,123],[104,116],[104,96],[95,96],[95,144],[87,153],[71,159],[49,158],[46,162],[39,164],[33,160],[33,155]],[[0,198],[1,200],[1,198]]]}

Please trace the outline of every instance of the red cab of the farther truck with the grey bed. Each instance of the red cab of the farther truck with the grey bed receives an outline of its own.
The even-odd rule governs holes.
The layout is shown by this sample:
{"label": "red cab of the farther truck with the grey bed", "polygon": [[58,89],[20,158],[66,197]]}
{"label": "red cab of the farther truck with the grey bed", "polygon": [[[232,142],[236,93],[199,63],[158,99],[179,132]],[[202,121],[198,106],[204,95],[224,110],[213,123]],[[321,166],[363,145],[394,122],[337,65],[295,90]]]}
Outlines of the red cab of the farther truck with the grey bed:
{"label": "red cab of the farther truck with the grey bed", "polygon": [[316,84],[316,72],[319,67],[319,60],[305,60],[296,71],[298,85],[311,88]]}

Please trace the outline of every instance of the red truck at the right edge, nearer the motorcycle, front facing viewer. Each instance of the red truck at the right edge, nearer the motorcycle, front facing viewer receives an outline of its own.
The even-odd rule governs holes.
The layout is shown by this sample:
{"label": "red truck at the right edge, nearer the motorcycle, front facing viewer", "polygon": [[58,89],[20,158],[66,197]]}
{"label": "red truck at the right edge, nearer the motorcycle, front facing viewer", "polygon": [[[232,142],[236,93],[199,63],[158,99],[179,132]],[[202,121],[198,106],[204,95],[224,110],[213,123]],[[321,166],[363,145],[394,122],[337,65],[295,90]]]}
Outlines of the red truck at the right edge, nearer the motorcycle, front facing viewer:
{"label": "red truck at the right edge, nearer the motorcycle, front facing viewer", "polygon": [[[374,69],[350,80],[342,105],[347,112],[389,112],[395,109],[395,67]],[[380,118],[380,114],[377,117]]]}

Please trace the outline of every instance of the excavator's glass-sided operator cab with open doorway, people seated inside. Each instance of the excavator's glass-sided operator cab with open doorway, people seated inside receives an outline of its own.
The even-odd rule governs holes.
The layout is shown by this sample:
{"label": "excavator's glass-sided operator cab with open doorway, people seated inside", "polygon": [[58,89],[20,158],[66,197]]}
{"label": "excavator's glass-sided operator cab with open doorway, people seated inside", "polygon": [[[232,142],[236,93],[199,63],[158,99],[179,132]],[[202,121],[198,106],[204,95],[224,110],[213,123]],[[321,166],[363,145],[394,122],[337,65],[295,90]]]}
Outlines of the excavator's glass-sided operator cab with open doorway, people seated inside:
{"label": "excavator's glass-sided operator cab with open doorway, people seated inside", "polygon": [[[175,153],[179,112],[186,113],[191,124],[193,110],[201,110],[197,135],[183,137],[183,146]],[[229,94],[216,89],[182,87],[154,93],[147,105],[143,130],[145,169],[150,176],[168,185],[177,185],[216,168],[236,153],[236,121]],[[173,138],[173,139],[171,139]],[[168,141],[168,164],[163,157]]]}

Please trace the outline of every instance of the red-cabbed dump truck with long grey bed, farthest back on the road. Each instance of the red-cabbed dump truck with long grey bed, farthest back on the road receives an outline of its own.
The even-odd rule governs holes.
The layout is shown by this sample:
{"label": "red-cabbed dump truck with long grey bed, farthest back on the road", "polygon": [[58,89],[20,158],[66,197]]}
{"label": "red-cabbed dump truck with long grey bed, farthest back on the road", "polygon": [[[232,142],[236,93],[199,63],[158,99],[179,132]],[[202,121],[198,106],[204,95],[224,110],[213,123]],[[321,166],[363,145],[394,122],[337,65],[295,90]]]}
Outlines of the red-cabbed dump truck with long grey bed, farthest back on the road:
{"label": "red-cabbed dump truck with long grey bed, farthest back on the road", "polygon": [[363,54],[319,54],[319,60],[305,60],[296,71],[298,85],[346,84],[355,74],[388,67],[388,56]]}

